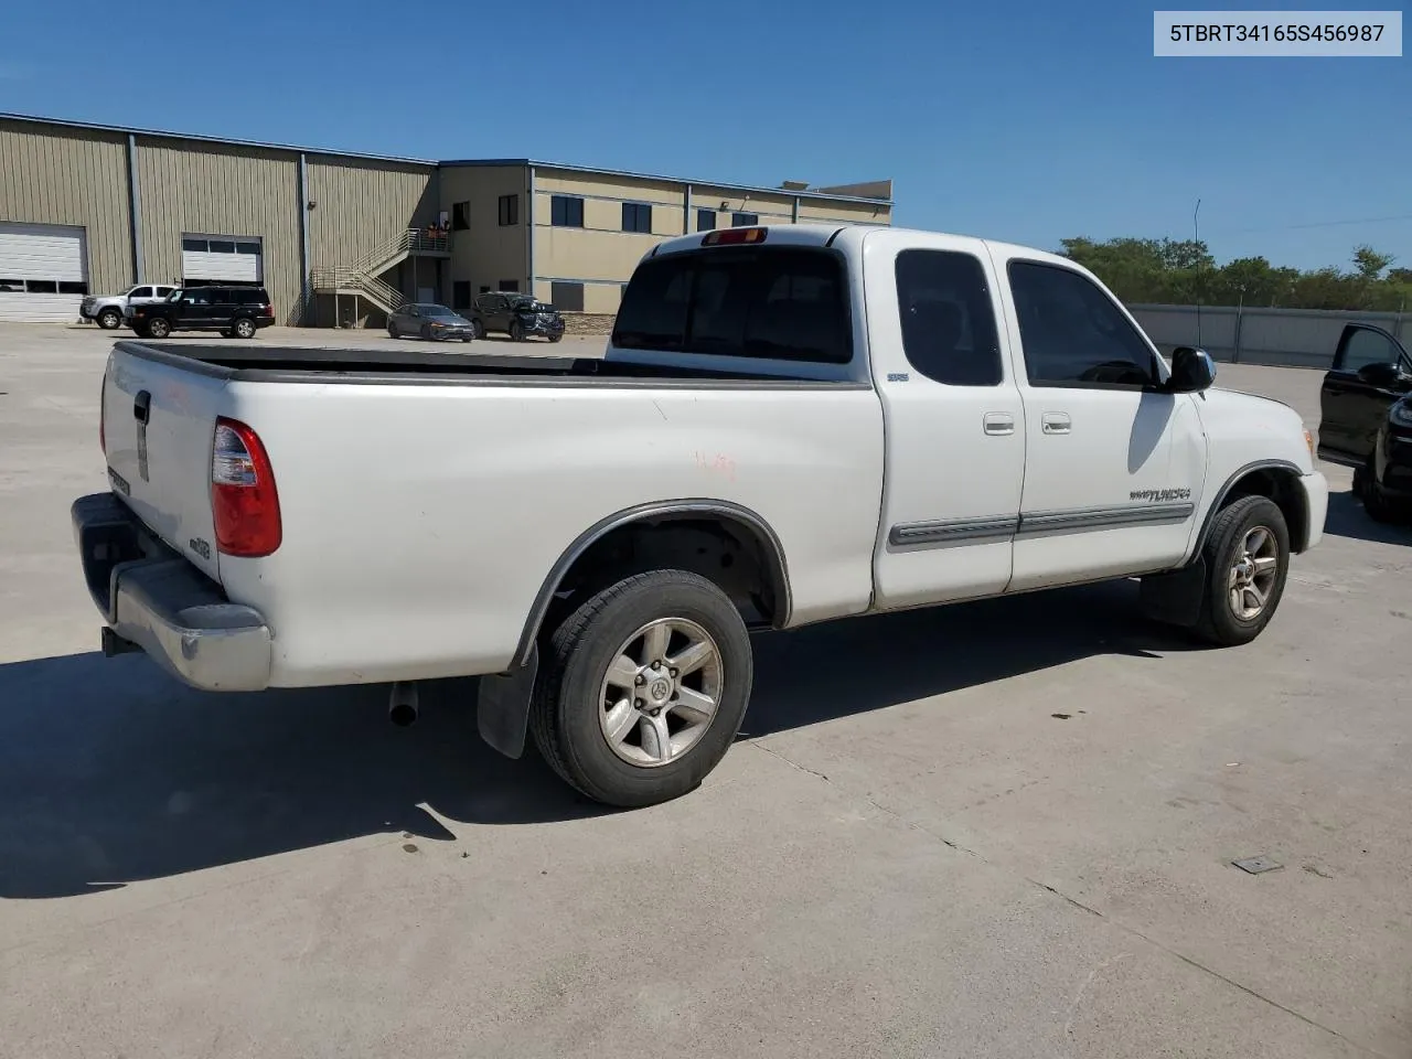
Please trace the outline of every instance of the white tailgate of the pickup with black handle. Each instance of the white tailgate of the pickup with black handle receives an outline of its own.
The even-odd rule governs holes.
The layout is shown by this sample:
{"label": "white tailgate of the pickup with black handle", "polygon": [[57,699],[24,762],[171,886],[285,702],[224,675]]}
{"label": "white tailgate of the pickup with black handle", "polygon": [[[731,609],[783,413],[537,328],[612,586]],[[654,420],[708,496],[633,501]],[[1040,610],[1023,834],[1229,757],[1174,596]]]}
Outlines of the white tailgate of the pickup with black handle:
{"label": "white tailgate of the pickup with black handle", "polygon": [[210,445],[225,380],[114,349],[103,381],[109,481],[133,513],[219,580]]}

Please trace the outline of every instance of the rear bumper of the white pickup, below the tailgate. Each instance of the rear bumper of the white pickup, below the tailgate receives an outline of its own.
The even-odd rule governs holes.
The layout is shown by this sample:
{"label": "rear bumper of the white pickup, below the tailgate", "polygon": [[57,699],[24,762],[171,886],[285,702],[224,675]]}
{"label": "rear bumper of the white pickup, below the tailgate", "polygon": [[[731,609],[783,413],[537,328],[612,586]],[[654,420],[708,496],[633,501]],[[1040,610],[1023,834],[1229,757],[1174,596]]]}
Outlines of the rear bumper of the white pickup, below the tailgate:
{"label": "rear bumper of the white pickup, below the tailgate", "polygon": [[83,580],[103,620],[174,676],[212,692],[270,685],[270,627],[165,544],[112,493],[73,503]]}

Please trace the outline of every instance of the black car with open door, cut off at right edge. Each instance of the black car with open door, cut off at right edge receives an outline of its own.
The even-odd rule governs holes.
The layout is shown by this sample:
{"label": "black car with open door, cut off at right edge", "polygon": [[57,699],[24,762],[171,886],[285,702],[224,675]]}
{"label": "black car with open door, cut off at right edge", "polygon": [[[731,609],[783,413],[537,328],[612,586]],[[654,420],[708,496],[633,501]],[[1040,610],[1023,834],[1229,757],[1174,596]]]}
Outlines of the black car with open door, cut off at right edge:
{"label": "black car with open door, cut off at right edge", "polygon": [[1353,467],[1380,522],[1412,518],[1412,356],[1371,323],[1350,323],[1319,391],[1319,456]]}

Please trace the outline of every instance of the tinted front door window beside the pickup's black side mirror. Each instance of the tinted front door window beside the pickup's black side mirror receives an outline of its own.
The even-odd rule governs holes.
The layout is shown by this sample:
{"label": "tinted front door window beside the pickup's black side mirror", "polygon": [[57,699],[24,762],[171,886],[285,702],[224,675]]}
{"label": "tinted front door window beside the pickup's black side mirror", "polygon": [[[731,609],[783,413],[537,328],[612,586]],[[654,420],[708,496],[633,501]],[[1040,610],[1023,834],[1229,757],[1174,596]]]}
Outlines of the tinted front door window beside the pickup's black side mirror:
{"label": "tinted front door window beside the pickup's black side mirror", "polygon": [[1158,381],[1152,349],[1086,275],[1011,261],[1010,288],[1031,385],[1132,388]]}

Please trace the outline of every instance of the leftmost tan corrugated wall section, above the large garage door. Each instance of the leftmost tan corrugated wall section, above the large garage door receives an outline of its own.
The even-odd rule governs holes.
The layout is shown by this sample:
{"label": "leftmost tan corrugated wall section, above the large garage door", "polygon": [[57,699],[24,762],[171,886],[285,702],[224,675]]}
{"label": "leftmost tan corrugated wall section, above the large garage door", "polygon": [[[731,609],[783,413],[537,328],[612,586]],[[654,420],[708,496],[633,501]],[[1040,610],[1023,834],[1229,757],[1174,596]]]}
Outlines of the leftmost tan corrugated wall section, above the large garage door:
{"label": "leftmost tan corrugated wall section, above the large garage door", "polygon": [[95,294],[133,281],[127,137],[0,120],[0,220],[82,225]]}

